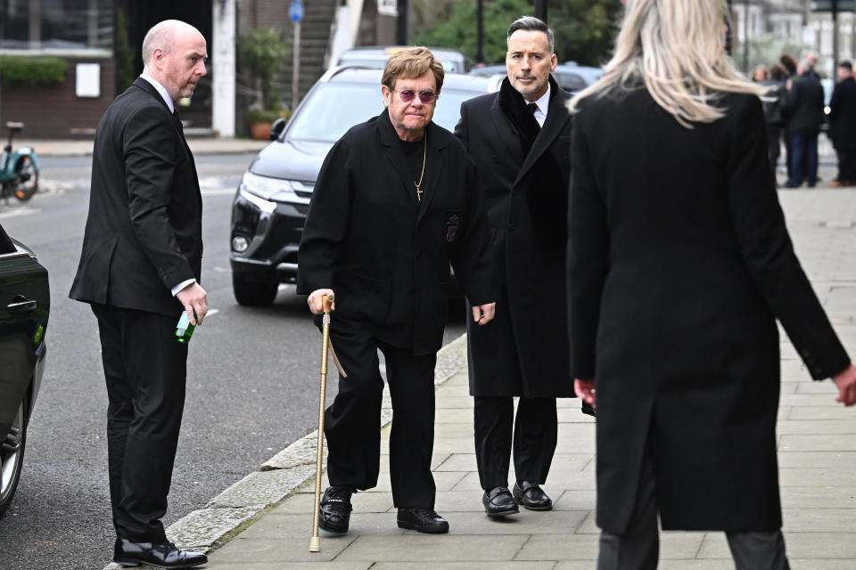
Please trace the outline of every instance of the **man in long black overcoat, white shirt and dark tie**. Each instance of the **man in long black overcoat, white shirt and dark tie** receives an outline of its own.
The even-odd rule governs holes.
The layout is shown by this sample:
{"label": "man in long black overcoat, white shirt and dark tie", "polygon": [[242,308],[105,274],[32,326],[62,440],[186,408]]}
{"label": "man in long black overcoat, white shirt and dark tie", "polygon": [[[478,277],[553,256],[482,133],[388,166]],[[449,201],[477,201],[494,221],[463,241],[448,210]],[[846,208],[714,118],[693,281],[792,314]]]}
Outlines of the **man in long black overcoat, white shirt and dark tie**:
{"label": "man in long black overcoat, white shirt and dark tie", "polygon": [[[543,21],[514,21],[507,42],[508,77],[498,93],[461,105],[455,129],[479,167],[501,286],[496,319],[467,330],[475,456],[490,517],[514,514],[518,503],[552,509],[540,485],[556,449],[556,396],[574,396],[561,318],[570,94],[550,76],[556,53]],[[507,477],[513,431],[514,493]]]}

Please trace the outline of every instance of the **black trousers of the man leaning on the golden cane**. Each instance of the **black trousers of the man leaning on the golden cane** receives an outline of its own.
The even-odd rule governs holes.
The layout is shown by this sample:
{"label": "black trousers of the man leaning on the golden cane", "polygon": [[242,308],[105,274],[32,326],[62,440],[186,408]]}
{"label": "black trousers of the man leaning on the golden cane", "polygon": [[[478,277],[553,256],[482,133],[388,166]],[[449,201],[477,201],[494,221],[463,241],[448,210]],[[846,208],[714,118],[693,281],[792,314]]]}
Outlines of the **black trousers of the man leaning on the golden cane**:
{"label": "black trousers of the man leaning on the golden cane", "polygon": [[379,342],[358,322],[334,319],[331,340],[347,378],[325,411],[327,476],[330,485],[366,490],[380,470],[383,378],[377,351],[386,360],[392,400],[390,476],[396,507],[433,509],[436,487],[431,472],[434,447],[434,365],[436,354]]}

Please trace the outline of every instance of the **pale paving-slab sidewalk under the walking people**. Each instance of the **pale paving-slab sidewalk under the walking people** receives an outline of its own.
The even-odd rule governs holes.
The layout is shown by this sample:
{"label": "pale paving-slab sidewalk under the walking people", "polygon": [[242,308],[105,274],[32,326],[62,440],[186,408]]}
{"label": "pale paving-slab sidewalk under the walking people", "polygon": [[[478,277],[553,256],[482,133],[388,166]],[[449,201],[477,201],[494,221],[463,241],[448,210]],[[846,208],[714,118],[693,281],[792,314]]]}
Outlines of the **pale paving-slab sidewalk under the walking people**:
{"label": "pale paving-slab sidewalk under the walking people", "polygon": [[[828,179],[828,178],[827,178]],[[856,354],[856,190],[782,191],[802,264],[844,345]],[[856,568],[856,410],[835,403],[832,382],[812,382],[783,335],[779,479],[794,570]],[[463,362],[463,343],[456,343]],[[559,400],[559,439],[545,490],[556,508],[494,521],[481,508],[473,455],[473,404],[465,365],[437,387],[433,470],[446,535],[400,530],[388,455],[377,488],[354,496],[350,533],[322,533],[309,552],[314,479],[210,553],[212,570],[275,568],[591,569],[597,558],[593,420]],[[389,428],[383,428],[383,453]],[[510,478],[513,480],[513,477]],[[324,483],[326,485],[326,481]],[[663,570],[733,567],[722,533],[663,533]]]}

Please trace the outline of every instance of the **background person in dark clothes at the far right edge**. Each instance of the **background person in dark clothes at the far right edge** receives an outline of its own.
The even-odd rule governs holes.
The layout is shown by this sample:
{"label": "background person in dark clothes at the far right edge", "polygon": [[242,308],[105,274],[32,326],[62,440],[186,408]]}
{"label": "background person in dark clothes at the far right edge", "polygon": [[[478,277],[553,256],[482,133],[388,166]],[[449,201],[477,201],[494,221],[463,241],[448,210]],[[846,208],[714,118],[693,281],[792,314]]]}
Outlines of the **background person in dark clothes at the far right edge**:
{"label": "background person in dark clothes at the far right edge", "polygon": [[856,184],[856,79],[850,61],[838,64],[838,83],[829,101],[829,137],[838,154],[838,176],[829,185]]}

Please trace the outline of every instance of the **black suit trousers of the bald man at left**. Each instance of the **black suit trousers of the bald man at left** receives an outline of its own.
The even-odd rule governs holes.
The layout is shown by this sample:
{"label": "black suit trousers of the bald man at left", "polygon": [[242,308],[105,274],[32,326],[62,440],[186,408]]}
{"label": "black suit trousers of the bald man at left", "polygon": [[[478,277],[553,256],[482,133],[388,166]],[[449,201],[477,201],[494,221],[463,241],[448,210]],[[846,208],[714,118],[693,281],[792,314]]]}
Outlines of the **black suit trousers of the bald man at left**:
{"label": "black suit trousers of the bald man at left", "polygon": [[164,542],[161,517],[185,405],[187,345],[175,318],[92,305],[107,382],[113,525],[133,542]]}

